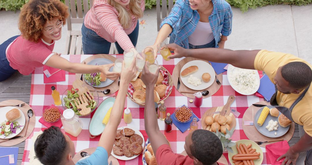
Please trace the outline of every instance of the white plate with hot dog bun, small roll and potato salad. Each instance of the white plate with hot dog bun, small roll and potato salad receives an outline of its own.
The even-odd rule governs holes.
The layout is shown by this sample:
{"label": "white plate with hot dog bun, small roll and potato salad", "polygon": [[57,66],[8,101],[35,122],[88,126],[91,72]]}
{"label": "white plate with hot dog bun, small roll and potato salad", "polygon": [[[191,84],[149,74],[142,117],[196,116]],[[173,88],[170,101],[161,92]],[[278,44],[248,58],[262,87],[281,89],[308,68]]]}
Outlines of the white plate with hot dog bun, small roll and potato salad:
{"label": "white plate with hot dog bun, small roll and potato salad", "polygon": [[[186,68],[188,68],[188,67],[190,67],[190,66],[197,66],[197,67],[198,67],[197,72],[192,73],[192,74],[190,74],[190,75],[193,75],[194,77],[197,77],[197,78],[201,79],[202,84],[198,85],[197,87],[195,87],[195,86],[192,85],[192,84],[189,84],[189,83],[188,83],[188,78],[190,77],[190,75],[188,75],[188,76],[185,76],[185,77],[180,77],[181,80],[182,80],[182,83],[183,83],[185,86],[187,86],[187,87],[190,88],[190,89],[199,91],[199,90],[204,90],[204,89],[210,87],[210,86],[213,84],[213,82],[214,82],[214,80],[215,80],[215,78],[216,78],[216,73],[215,73],[214,69],[212,68],[212,66],[211,66],[209,63],[207,63],[207,62],[205,62],[205,61],[201,61],[201,60],[193,60],[193,61],[190,61],[190,62],[184,64],[184,66],[182,67],[182,69],[181,69],[181,71],[180,71],[180,75],[181,75],[181,72],[182,72],[184,69],[186,69]],[[205,82],[202,80],[202,74],[203,74],[203,73],[209,73],[209,74],[210,74],[211,79],[210,79],[210,81],[209,81],[208,83],[205,83]]]}

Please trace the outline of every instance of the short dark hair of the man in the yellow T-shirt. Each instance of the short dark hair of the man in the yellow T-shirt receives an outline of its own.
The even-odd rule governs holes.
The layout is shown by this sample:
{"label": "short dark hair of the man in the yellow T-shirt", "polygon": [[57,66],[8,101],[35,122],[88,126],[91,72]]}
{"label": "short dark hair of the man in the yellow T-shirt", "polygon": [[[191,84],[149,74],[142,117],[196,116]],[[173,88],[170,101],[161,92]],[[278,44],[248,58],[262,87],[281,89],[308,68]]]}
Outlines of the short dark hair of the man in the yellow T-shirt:
{"label": "short dark hair of the man in the yellow T-shirt", "polygon": [[303,62],[290,62],[283,66],[281,73],[292,88],[302,89],[312,82],[312,70]]}

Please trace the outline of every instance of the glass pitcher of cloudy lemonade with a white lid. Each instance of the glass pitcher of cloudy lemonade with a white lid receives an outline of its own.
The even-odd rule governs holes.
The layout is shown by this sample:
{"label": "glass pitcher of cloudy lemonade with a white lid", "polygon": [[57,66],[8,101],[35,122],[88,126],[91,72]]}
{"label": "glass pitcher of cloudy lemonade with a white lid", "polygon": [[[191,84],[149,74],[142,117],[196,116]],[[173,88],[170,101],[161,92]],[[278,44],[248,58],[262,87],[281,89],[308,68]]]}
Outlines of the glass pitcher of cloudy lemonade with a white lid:
{"label": "glass pitcher of cloudy lemonade with a white lid", "polygon": [[82,123],[79,116],[74,113],[72,109],[66,109],[62,116],[61,121],[65,132],[77,137],[82,131]]}

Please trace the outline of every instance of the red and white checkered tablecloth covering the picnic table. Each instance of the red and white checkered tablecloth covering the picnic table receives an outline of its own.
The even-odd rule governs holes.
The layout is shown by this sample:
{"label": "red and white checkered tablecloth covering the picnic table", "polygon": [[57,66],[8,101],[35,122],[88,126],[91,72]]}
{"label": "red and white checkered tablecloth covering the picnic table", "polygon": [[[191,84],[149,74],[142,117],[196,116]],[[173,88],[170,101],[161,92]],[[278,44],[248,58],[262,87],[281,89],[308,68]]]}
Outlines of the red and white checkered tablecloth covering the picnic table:
{"label": "red and white checkered tablecloth covering the picnic table", "polygon": [[[86,58],[90,57],[91,55],[62,55],[62,57],[66,58],[70,62],[73,63],[81,63]],[[123,55],[113,55],[117,58],[123,58]],[[157,61],[159,65],[162,65],[165,67],[170,73],[173,72],[174,66],[180,61],[181,59],[174,59],[170,61],[165,61],[161,56],[158,56]],[[43,68],[37,68],[32,73],[32,84],[31,84],[31,96],[30,96],[30,106],[33,108],[33,110],[36,113],[36,125],[34,128],[33,133],[39,132],[40,130],[45,130],[46,127],[39,123],[39,119],[42,116],[42,110],[46,108],[47,106],[50,106],[51,104],[54,104],[52,96],[51,96],[51,86],[56,86],[57,91],[62,94],[68,87],[71,86],[73,81],[75,80],[75,74],[74,73],[68,73],[66,72],[66,81],[64,82],[57,82],[57,83],[49,83],[44,84],[43,83]],[[196,114],[197,117],[201,117],[204,112],[211,108],[211,107],[217,107],[217,106],[223,106],[228,99],[228,96],[234,95],[236,97],[234,103],[232,103],[231,108],[237,110],[240,112],[239,118],[236,118],[236,128],[232,136],[232,140],[238,141],[240,139],[248,139],[242,130],[242,117],[246,109],[251,106],[252,103],[256,103],[259,101],[263,101],[263,98],[259,98],[254,95],[245,96],[241,95],[234,91],[234,89],[230,86],[228,80],[227,80],[227,72],[223,73],[223,83],[221,88],[215,93],[212,97],[205,98],[203,100],[203,104],[200,108],[195,107],[194,103],[189,103],[188,100],[190,98],[187,98],[183,96],[181,93],[179,93],[175,88],[172,89],[172,92],[170,96],[165,100],[165,105],[167,107],[167,112],[173,113],[176,107],[180,105],[187,105],[188,107],[192,108],[193,112]],[[105,97],[104,97],[105,98]],[[100,103],[104,98],[100,98]],[[143,134],[144,139],[146,141],[147,134],[145,132],[144,128],[144,107],[139,106],[138,104],[132,102],[129,98],[126,98],[125,107],[128,106],[131,110],[133,120],[130,124],[125,124],[124,120],[122,119],[119,127],[121,126],[129,126],[133,127],[135,129],[140,130],[140,132]],[[59,106],[59,108],[62,108]],[[98,144],[98,141],[100,139],[100,136],[91,139],[89,138],[89,123],[92,115],[81,117],[81,121],[83,123],[83,130],[80,133],[78,137],[73,137],[70,134],[68,134],[71,138],[71,140],[75,144],[76,152],[79,152],[85,148],[91,148],[96,147]],[[184,151],[184,141],[185,137],[188,135],[188,131],[185,133],[181,133],[176,126],[173,124],[173,131],[171,133],[165,133],[164,132],[164,122],[158,121],[159,129],[161,132],[163,132],[167,139],[169,140],[171,144],[171,148],[174,153],[181,153]],[[198,122],[198,128],[201,128],[201,122]],[[62,129],[64,131],[64,129]],[[26,139],[25,143],[25,151],[22,159],[22,165],[28,165],[29,159],[29,150],[31,146],[33,145],[32,139],[30,139],[33,136],[33,133],[30,135],[28,139]],[[266,156],[266,149],[261,148],[264,153],[263,163],[262,164],[271,164],[270,160]],[[228,154],[223,153],[224,156],[227,158]],[[137,158],[129,160],[129,161],[121,161],[119,160],[120,165],[141,165],[142,164],[142,154],[140,154]]]}

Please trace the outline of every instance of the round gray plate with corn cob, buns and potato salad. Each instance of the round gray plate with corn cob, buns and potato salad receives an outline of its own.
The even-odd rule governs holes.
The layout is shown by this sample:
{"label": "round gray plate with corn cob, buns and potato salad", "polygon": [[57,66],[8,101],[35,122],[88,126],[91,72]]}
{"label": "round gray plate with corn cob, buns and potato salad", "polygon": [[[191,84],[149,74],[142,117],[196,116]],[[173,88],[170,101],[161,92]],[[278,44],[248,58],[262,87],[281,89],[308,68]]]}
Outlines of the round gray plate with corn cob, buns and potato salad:
{"label": "round gray plate with corn cob, buns and potato salad", "polygon": [[[271,108],[274,108],[274,107],[271,106],[271,105],[266,106],[266,107],[268,107],[268,108],[270,108],[270,109],[271,109]],[[278,117],[273,117],[273,116],[270,115],[270,113],[268,114],[268,117],[266,118],[266,120],[264,121],[264,123],[263,123],[263,125],[262,125],[261,127],[257,124],[258,118],[259,118],[259,116],[260,116],[260,114],[261,114],[263,108],[264,108],[264,107],[262,107],[262,108],[260,108],[260,109],[258,110],[258,112],[256,113],[255,118],[254,118],[254,125],[256,126],[257,130],[258,130],[262,135],[264,135],[264,136],[266,136],[266,137],[269,137],[269,138],[278,138],[278,137],[281,137],[281,136],[285,135],[285,133],[288,132],[290,126],[284,128],[284,127],[280,126],[280,124],[278,123],[278,128],[277,128],[276,131],[273,130],[273,131],[270,132],[270,131],[268,131],[268,130],[266,129],[266,126],[269,124],[269,121],[270,121],[270,120],[273,120],[273,121],[277,121],[277,122],[278,122]],[[280,113],[280,114],[281,114],[281,113]],[[277,132],[277,135],[274,134],[275,132]]]}

